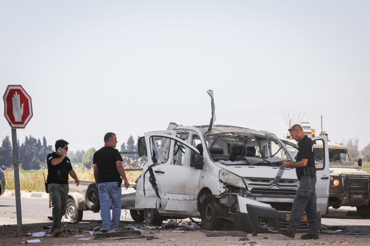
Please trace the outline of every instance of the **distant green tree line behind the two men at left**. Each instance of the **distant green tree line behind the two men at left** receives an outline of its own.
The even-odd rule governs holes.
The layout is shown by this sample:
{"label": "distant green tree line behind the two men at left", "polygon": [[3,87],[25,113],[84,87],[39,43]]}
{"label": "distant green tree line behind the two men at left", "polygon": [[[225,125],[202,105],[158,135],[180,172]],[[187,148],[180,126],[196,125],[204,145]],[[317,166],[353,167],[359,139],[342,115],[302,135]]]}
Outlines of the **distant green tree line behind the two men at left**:
{"label": "distant green tree line behind the two men at left", "polygon": [[[139,137],[138,137],[139,139]],[[20,144],[18,140],[18,160],[23,170],[39,170],[40,163],[46,161],[48,153],[53,152],[54,146],[48,145],[46,138],[42,137],[42,143],[40,139],[36,139],[29,135],[25,137],[24,142]],[[121,145],[120,151],[137,151],[137,145],[135,140],[130,136],[126,143]],[[68,158],[72,164],[82,163],[85,167],[90,168],[92,164],[93,155],[95,149],[91,148],[88,151],[68,151]],[[123,154],[123,157],[128,156]],[[137,154],[130,154],[130,158],[137,159]],[[2,139],[2,145],[0,147],[0,167],[9,168],[13,165],[13,151],[12,142],[9,136]]]}

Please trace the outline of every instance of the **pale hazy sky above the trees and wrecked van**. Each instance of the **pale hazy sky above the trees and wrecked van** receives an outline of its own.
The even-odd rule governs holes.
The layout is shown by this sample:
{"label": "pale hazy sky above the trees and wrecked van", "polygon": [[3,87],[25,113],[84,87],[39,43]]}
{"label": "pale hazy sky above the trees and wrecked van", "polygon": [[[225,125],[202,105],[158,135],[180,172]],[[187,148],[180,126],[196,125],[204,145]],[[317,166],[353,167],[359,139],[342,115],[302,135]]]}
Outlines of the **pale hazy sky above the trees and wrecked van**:
{"label": "pale hazy sky above the trees and wrecked van", "polygon": [[[370,143],[370,1],[0,0],[0,93],[34,116],[18,139],[119,145],[169,122],[274,132],[301,112],[334,142]],[[1,108],[3,100],[1,99]],[[269,116],[271,115],[271,116]],[[293,117],[292,117],[293,118]],[[11,136],[2,116],[0,137]]]}

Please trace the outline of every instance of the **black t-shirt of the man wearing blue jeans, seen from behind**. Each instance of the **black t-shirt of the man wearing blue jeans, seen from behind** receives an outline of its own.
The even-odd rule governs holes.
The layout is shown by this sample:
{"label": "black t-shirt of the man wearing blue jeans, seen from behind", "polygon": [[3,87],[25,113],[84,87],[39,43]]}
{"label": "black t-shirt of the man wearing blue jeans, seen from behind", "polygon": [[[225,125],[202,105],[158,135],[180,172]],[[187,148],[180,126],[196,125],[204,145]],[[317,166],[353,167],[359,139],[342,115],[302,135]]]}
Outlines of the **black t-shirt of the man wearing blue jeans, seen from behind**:
{"label": "black t-shirt of the man wearing blue jeans, seen from behind", "polygon": [[94,153],[93,163],[98,166],[98,183],[120,181],[116,161],[123,161],[120,152],[109,146],[104,146]]}

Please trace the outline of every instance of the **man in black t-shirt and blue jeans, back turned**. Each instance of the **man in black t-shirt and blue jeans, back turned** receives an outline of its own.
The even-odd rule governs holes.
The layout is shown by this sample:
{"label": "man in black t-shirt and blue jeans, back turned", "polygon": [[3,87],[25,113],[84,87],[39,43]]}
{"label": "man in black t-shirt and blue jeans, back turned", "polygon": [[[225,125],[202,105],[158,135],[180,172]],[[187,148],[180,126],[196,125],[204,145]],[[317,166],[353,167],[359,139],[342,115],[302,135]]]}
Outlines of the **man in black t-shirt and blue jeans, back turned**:
{"label": "man in black t-shirt and blue jeans, back turned", "polygon": [[[117,137],[113,132],[104,136],[104,147],[94,153],[94,178],[98,187],[100,200],[100,216],[105,229],[118,228],[121,217],[121,183],[126,189],[129,184],[122,166],[122,156],[115,149]],[[121,179],[122,177],[122,179]],[[110,216],[110,200],[112,199],[112,219]]]}

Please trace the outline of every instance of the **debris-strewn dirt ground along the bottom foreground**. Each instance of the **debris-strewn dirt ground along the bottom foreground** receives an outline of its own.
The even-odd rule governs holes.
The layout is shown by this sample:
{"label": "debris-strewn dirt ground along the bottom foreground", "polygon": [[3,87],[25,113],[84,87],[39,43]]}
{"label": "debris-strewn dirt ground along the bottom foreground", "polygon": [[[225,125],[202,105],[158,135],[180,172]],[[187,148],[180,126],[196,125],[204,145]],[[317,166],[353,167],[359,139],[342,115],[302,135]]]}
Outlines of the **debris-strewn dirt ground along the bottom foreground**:
{"label": "debris-strewn dirt ground along the bottom foreground", "polygon": [[[178,221],[180,222],[180,221]],[[23,224],[22,231],[17,231],[16,225],[0,226],[0,246],[9,246],[26,242],[27,240],[40,239],[43,243],[33,244],[44,246],[111,246],[111,245],[158,245],[158,246],[310,246],[310,245],[370,245],[370,235],[325,234],[320,233],[318,240],[301,240],[300,234],[294,239],[273,233],[258,232],[256,236],[219,236],[220,233],[236,233],[235,230],[207,231],[202,228],[196,231],[184,228],[149,227],[144,223],[131,220],[121,221],[120,226],[142,230],[141,235],[126,234],[125,236],[94,238],[88,231],[94,227],[103,227],[99,220],[82,221],[77,224],[62,222],[62,235],[59,237],[30,237],[27,234],[41,232],[51,226],[49,223]],[[213,236],[207,236],[212,233]],[[46,233],[47,234],[47,233]],[[216,236],[217,235],[217,236]],[[84,240],[87,239],[87,240]],[[151,240],[150,240],[151,239]]]}

